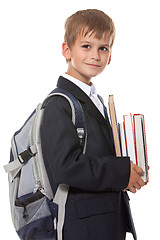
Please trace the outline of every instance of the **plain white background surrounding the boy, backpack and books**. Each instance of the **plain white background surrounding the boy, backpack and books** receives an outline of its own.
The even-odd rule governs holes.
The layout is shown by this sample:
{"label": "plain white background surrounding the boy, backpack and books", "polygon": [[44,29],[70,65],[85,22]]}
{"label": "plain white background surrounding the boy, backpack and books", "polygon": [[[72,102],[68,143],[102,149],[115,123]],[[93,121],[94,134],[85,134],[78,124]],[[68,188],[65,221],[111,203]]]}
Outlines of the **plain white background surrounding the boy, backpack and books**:
{"label": "plain white background surrounding the boy, backpack and books", "polygon": [[[159,2],[156,0],[1,0],[0,2],[0,226],[1,236],[18,240],[12,226],[8,182],[10,139],[67,69],[61,54],[65,19],[77,10],[98,8],[115,22],[111,64],[93,79],[108,102],[114,94],[123,114],[146,119],[150,183],[130,194],[138,240],[159,239]],[[132,239],[127,235],[127,240]]]}

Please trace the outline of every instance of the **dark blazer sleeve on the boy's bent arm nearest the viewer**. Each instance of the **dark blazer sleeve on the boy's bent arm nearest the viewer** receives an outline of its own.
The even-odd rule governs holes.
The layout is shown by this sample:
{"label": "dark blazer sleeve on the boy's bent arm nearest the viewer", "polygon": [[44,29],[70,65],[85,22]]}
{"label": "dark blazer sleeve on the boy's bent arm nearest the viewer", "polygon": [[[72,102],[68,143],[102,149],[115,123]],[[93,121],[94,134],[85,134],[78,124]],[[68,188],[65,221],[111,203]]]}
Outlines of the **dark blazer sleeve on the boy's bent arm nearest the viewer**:
{"label": "dark blazer sleeve on the boy's bent arm nearest the viewer", "polygon": [[50,184],[67,184],[85,191],[123,190],[130,176],[130,160],[82,154],[66,99],[54,96],[41,126],[42,153]]}

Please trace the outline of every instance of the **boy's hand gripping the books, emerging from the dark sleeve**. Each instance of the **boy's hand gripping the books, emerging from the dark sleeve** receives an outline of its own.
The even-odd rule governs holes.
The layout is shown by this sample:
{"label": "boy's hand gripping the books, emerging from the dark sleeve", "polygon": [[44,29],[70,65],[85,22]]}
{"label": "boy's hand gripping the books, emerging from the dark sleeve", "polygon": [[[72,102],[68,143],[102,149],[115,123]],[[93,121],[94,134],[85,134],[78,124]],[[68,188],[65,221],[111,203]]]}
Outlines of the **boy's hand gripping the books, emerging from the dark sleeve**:
{"label": "boy's hand gripping the books, emerging from the dark sleeve", "polygon": [[134,163],[131,163],[130,179],[126,189],[130,190],[130,192],[132,193],[136,193],[137,189],[139,190],[141,189],[141,187],[145,185],[145,182],[142,180],[140,176],[142,172],[143,172],[142,168],[135,165]]}

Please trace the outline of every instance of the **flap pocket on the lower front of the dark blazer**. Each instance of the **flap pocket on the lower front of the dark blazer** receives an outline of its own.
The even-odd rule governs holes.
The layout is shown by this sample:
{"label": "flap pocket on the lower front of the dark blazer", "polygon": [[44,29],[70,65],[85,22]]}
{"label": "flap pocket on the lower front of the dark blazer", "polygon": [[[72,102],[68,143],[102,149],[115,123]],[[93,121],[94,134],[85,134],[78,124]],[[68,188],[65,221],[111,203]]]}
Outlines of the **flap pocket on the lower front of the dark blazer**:
{"label": "flap pocket on the lower front of the dark blazer", "polygon": [[86,218],[114,211],[112,199],[106,195],[78,200],[76,202],[76,208],[79,218]]}

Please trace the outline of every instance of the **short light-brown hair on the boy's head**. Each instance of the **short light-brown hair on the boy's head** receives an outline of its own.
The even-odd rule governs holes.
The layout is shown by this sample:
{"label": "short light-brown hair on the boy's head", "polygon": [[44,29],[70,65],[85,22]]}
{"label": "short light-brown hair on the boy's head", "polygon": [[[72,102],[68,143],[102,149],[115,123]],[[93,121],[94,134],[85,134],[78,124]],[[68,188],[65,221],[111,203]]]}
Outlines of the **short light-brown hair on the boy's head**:
{"label": "short light-brown hair on the boy's head", "polygon": [[78,34],[86,36],[88,33],[95,34],[97,39],[103,36],[112,36],[112,47],[115,39],[115,25],[112,19],[103,11],[87,9],[74,13],[65,22],[64,41],[71,48]]}

